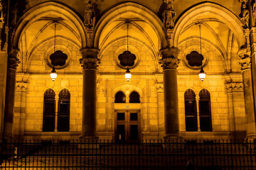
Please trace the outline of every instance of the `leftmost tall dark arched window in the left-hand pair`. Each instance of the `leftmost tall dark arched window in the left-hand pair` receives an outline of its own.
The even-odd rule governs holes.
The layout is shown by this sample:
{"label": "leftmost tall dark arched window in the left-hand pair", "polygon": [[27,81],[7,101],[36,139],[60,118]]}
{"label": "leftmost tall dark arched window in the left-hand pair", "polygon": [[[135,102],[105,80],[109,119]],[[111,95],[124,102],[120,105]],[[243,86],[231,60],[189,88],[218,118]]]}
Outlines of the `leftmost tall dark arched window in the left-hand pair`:
{"label": "leftmost tall dark arched window in the left-hand pair", "polygon": [[55,92],[48,89],[43,97],[43,132],[53,132],[55,127]]}

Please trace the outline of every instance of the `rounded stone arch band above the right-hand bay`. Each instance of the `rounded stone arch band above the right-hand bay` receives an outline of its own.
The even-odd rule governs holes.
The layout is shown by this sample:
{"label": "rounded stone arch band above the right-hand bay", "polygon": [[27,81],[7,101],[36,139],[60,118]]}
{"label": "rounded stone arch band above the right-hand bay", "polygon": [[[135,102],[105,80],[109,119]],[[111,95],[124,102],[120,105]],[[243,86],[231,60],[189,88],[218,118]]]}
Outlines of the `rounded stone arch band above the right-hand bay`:
{"label": "rounded stone arch band above the right-hand bay", "polygon": [[174,46],[178,47],[178,38],[183,29],[188,26],[188,23],[191,23],[191,21],[195,20],[196,18],[203,18],[203,16],[209,15],[213,15],[216,20],[224,23],[225,26],[230,28],[235,35],[239,47],[245,45],[245,37],[240,19],[223,6],[210,2],[204,2],[203,4],[198,4],[197,6],[193,6],[193,8],[188,9],[188,11],[183,13],[182,16],[178,18],[174,28]]}

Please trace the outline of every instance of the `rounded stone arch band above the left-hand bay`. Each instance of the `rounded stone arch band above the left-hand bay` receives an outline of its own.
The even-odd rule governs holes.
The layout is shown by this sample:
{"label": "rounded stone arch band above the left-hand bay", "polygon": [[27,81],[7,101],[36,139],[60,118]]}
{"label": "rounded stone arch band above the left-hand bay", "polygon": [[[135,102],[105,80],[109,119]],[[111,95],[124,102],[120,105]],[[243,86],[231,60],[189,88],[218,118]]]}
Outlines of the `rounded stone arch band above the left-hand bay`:
{"label": "rounded stone arch band above the left-hand bay", "polygon": [[16,32],[14,34],[13,47],[18,49],[21,36],[27,28],[35,21],[38,21],[49,14],[61,17],[72,23],[80,35],[81,47],[86,46],[85,27],[83,26],[82,20],[79,16],[67,6],[63,6],[62,4],[58,4],[53,1],[48,1],[34,6],[21,17],[18,21],[18,26],[16,27]]}

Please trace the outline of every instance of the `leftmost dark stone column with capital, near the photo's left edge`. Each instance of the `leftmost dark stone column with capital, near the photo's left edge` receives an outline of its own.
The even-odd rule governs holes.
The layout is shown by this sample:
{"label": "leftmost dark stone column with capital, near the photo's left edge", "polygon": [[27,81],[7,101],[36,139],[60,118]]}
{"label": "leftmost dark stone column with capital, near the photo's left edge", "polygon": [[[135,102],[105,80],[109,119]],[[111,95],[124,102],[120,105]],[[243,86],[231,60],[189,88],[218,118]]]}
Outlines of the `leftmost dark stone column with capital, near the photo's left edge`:
{"label": "leftmost dark stone column with capital, near the photo's left edge", "polygon": [[12,50],[8,56],[8,68],[6,78],[6,102],[4,111],[4,139],[14,138],[14,94],[16,88],[16,68],[19,60],[18,50]]}

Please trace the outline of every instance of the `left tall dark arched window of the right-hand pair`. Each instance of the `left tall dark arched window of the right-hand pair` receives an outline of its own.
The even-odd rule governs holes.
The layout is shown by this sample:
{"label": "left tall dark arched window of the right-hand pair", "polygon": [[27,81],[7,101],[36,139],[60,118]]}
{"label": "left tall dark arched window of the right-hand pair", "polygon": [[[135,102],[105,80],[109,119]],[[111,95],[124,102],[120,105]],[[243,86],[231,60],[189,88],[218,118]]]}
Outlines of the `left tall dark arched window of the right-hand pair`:
{"label": "left tall dark arched window of the right-hand pair", "polygon": [[193,90],[188,89],[184,94],[185,99],[185,121],[186,131],[197,131],[198,123],[196,117],[196,94]]}

